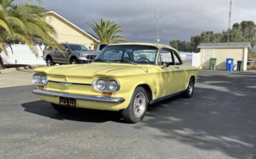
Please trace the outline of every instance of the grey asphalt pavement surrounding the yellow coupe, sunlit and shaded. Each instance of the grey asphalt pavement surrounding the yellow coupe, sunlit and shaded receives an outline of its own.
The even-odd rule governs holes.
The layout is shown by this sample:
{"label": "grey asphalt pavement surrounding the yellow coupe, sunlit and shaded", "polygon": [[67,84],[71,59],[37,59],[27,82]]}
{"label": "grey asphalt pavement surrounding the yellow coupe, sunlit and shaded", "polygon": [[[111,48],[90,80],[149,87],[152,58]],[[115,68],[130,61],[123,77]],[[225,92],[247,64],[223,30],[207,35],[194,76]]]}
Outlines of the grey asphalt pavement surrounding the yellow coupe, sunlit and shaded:
{"label": "grey asphalt pavement surrounding the yellow coupe, sunlit and shaded", "polygon": [[201,71],[194,97],[118,113],[60,114],[30,93],[0,89],[0,158],[256,158],[256,72]]}

